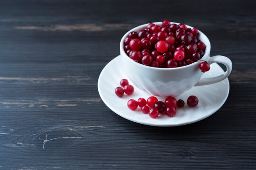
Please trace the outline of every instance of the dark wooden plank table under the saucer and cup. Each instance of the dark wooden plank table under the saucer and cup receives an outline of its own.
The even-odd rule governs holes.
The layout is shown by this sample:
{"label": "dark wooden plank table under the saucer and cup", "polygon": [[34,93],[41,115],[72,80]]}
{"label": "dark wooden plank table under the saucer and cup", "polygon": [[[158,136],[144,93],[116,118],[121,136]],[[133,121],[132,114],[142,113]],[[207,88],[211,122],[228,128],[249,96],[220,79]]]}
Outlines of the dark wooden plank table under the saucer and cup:
{"label": "dark wooden plank table under the saucer and cup", "polygon": [[[248,0],[1,0],[0,170],[255,170],[256,3]],[[198,27],[233,62],[207,119],[150,127],[100,99],[98,76],[134,26]]]}

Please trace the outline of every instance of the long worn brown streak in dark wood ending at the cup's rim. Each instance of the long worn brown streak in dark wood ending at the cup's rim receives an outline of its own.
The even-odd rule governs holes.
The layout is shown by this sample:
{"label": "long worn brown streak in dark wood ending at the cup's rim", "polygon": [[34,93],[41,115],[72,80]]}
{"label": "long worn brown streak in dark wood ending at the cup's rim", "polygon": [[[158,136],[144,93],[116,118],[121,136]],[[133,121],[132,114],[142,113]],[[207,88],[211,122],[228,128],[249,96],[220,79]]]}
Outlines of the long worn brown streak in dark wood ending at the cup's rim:
{"label": "long worn brown streak in dark wood ending at the cup's rim", "polygon": [[15,29],[22,30],[40,30],[40,31],[104,31],[104,30],[120,30],[130,29],[130,24],[104,24],[97,26],[95,24],[77,24],[77,25],[52,25],[52,26],[15,26]]}

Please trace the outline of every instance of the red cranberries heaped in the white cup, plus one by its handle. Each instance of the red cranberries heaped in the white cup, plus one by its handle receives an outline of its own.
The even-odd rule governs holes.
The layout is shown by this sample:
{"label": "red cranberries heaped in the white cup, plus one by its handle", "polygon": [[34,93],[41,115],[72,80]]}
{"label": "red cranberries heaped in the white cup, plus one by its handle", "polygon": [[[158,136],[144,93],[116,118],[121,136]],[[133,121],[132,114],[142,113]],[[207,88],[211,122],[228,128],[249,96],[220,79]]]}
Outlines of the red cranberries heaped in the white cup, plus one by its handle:
{"label": "red cranberries heaped in the white cup, plus one by its handle", "polygon": [[[197,28],[164,20],[161,26],[150,23],[143,30],[129,33],[124,39],[124,51],[131,59],[146,66],[182,67],[204,55],[206,46],[198,37]],[[202,65],[209,64],[204,62]]]}

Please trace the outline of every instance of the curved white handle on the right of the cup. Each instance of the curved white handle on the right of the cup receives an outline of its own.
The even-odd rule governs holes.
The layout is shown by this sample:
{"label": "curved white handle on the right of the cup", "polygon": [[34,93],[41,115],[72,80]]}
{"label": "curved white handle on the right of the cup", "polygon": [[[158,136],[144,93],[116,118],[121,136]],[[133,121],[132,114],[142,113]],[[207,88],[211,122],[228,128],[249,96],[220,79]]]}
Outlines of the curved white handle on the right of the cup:
{"label": "curved white handle on the right of the cup", "polygon": [[221,55],[210,57],[208,63],[212,64],[212,63],[215,63],[215,62],[224,64],[227,68],[227,71],[225,73],[223,73],[222,75],[219,75],[219,76],[210,77],[210,78],[201,78],[195,86],[209,85],[209,84],[213,84],[213,83],[218,83],[218,82],[224,80],[225,78],[227,78],[229,76],[229,74],[232,70],[231,60],[228,59],[228,57],[221,56]]}

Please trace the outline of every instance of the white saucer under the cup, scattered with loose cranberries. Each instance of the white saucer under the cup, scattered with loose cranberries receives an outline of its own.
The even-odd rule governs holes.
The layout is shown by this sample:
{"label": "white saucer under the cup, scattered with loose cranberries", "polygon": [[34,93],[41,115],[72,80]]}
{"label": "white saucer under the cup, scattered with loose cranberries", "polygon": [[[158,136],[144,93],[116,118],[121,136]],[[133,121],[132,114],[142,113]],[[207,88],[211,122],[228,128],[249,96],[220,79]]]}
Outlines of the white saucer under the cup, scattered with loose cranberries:
{"label": "white saucer under the cup, scattered with loose cranberries", "polygon": [[[204,73],[203,77],[218,76],[223,73],[223,69],[217,63],[213,63],[211,64],[210,71]],[[128,109],[128,100],[138,100],[140,97],[147,100],[150,97],[150,95],[135,87],[129,79],[129,83],[134,87],[134,93],[132,95],[124,94],[122,98],[115,95],[114,89],[120,86],[119,82],[123,78],[128,79],[123,71],[121,56],[119,55],[103,68],[99,76],[98,91],[103,102],[119,116],[150,126],[181,126],[205,119],[215,113],[224,104],[229,93],[228,78],[216,84],[193,87],[176,97],[177,100],[184,100],[185,106],[182,108],[177,107],[177,113],[174,117],[159,115],[157,119],[152,119],[148,114],[142,113],[139,107],[136,111]],[[199,104],[194,108],[190,108],[186,103],[190,95],[195,95],[199,99]]]}

